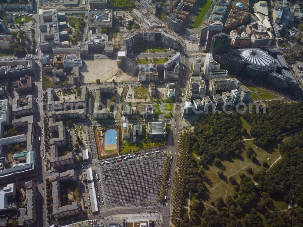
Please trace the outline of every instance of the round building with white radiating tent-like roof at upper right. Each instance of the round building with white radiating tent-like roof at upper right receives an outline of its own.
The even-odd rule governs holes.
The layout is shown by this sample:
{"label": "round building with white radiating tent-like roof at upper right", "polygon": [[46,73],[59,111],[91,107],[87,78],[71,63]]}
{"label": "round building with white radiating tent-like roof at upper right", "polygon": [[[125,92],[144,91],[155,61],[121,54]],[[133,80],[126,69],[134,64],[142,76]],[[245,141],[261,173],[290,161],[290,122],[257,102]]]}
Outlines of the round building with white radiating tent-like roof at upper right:
{"label": "round building with white radiating tent-like roof at upper right", "polygon": [[266,51],[249,49],[240,56],[248,64],[246,72],[251,76],[267,76],[275,70],[275,60]]}

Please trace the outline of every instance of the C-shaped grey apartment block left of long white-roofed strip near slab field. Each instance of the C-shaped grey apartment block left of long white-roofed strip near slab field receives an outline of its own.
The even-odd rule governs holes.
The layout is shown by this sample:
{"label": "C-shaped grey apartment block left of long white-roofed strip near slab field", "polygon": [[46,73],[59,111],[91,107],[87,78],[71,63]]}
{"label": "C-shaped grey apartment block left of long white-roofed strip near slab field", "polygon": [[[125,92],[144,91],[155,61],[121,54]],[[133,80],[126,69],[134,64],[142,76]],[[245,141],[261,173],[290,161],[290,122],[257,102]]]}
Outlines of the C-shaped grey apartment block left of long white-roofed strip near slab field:
{"label": "C-shaped grey apartment block left of long white-roofed strip near slab field", "polygon": [[65,181],[77,181],[77,175],[74,169],[67,170],[63,173],[52,173],[52,197],[53,197],[53,215],[57,219],[64,218],[66,216],[78,215],[81,211],[78,202],[72,202],[72,205],[61,205],[61,189],[60,183]]}

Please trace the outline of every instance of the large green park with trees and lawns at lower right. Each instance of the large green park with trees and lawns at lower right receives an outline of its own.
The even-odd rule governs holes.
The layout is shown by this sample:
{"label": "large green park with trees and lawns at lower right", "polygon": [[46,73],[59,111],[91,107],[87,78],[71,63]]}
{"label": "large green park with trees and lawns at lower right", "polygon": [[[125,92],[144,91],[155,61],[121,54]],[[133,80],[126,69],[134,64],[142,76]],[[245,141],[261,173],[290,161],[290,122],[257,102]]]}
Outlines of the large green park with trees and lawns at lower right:
{"label": "large green park with trees and lawns at lower right", "polygon": [[180,133],[173,225],[301,226],[303,103],[261,107],[207,114]]}

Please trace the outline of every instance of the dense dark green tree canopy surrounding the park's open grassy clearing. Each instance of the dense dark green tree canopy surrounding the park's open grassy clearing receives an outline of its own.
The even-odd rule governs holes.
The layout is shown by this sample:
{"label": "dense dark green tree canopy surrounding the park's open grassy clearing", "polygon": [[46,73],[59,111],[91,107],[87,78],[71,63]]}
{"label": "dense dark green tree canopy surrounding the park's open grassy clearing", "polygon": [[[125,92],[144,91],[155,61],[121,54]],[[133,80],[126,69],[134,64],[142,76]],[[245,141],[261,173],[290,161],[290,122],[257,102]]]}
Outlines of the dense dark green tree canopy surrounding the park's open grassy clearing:
{"label": "dense dark green tree canopy surrounding the park's open grassy clearing", "polygon": [[[280,143],[280,134],[302,126],[302,110],[302,102],[275,101],[267,103],[266,113],[261,111],[256,113],[253,108],[252,113],[244,113],[242,116],[251,126],[250,133],[255,138],[254,143],[266,147],[274,142]],[[197,164],[190,150],[195,150],[202,156],[202,160],[214,154],[213,165],[219,168],[223,165],[222,158],[234,157],[241,150],[241,129],[239,115],[215,113],[203,116],[201,122],[195,124],[193,133],[188,134],[191,141],[189,146],[193,149],[180,153],[180,167],[177,173],[178,175],[186,173],[182,174],[183,187],[178,186],[180,181],[176,181],[177,184],[173,185],[177,192],[182,193],[178,194],[178,197],[174,195],[172,199],[174,204],[172,221],[176,223],[176,226],[299,227],[302,225],[303,133],[290,137],[287,142],[279,145],[282,157],[270,168],[266,161],[260,165],[262,169],[260,172],[254,173],[251,167],[243,166],[245,168],[238,173],[241,179],[238,182],[235,176],[230,176],[227,180],[223,175],[221,179],[233,186],[233,195],[227,195],[224,199],[218,197],[211,202],[211,205],[203,204],[202,201],[210,203],[207,199],[204,200],[208,195],[204,184],[207,175],[204,173],[204,167],[200,166],[201,159]],[[187,144],[183,139],[180,137],[182,146]],[[252,147],[246,147],[243,155],[251,160],[256,158]],[[223,174],[223,171],[221,172]],[[251,179],[250,175],[257,183]],[[190,211],[187,212],[184,208],[187,206],[189,194],[195,196],[197,200],[191,203]],[[288,204],[291,201],[292,204],[297,203],[299,206],[287,211],[280,208],[278,211],[275,200],[272,200],[277,197],[281,202]],[[179,202],[178,198],[182,198],[180,199],[182,202]],[[186,201],[183,201],[183,198],[186,198]],[[183,209],[177,209],[178,202]]]}

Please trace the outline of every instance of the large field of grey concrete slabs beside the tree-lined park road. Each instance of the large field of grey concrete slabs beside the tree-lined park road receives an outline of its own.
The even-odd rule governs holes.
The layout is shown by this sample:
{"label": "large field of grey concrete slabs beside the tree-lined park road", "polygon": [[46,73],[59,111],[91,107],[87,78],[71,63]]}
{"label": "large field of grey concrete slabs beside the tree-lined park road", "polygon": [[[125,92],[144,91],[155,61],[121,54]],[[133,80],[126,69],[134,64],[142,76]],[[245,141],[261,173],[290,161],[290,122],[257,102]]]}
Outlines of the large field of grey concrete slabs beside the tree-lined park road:
{"label": "large field of grey concrete slabs beside the tree-lined park road", "polygon": [[106,207],[157,203],[165,158],[158,154],[100,167]]}

